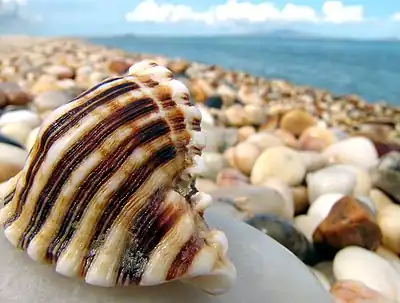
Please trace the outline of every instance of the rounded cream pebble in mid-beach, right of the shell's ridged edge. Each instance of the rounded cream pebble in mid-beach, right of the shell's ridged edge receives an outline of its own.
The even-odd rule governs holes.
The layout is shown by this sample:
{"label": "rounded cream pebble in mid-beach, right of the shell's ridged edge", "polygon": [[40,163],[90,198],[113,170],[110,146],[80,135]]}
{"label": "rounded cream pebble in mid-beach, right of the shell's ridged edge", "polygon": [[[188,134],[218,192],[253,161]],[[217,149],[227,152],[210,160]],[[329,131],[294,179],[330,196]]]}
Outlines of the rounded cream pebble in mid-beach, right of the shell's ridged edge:
{"label": "rounded cream pebble in mid-beach, right of the shell's ridged edge", "polygon": [[254,163],[251,183],[262,184],[271,178],[279,179],[289,186],[302,183],[306,167],[300,154],[286,146],[276,146],[265,150]]}

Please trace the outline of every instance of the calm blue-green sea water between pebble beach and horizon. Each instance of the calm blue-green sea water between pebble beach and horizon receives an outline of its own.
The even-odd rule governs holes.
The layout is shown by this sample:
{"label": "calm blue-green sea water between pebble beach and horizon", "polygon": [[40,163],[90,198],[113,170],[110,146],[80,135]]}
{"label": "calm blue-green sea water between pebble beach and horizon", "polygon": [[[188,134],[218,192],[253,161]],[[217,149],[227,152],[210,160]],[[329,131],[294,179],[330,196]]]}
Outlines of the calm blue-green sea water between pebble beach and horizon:
{"label": "calm blue-green sea water between pebble beach and horizon", "polygon": [[266,37],[114,37],[89,39],[133,52],[181,57],[334,94],[400,106],[400,41]]}

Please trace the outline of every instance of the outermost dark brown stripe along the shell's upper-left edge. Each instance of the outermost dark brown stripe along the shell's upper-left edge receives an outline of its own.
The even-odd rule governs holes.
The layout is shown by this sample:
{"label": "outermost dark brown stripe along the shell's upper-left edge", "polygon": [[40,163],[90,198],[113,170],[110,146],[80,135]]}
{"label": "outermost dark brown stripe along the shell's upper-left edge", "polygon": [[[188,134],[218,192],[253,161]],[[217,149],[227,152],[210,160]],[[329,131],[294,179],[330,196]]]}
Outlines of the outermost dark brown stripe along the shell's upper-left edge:
{"label": "outermost dark brown stripe along the shell's upper-left edge", "polygon": [[31,165],[26,172],[26,184],[20,191],[18,191],[16,195],[17,207],[14,214],[10,216],[10,218],[8,218],[8,220],[6,220],[6,222],[4,223],[5,228],[11,225],[20,216],[28,192],[32,187],[34,176],[38,172],[41,164],[44,161],[44,157],[49,151],[52,144],[60,137],[65,135],[65,133],[67,133],[71,127],[73,127],[76,123],[86,117],[91,111],[95,110],[97,107],[112,101],[122,94],[125,94],[132,90],[136,90],[138,88],[139,85],[134,82],[124,82],[122,84],[111,87],[110,89],[102,91],[101,93],[95,95],[93,98],[87,100],[85,103],[73,108],[72,110],[65,113],[63,116],[59,117],[57,120],[52,122],[47,129],[44,130],[43,135],[38,138],[38,142],[36,144],[37,149],[32,150],[34,155]]}

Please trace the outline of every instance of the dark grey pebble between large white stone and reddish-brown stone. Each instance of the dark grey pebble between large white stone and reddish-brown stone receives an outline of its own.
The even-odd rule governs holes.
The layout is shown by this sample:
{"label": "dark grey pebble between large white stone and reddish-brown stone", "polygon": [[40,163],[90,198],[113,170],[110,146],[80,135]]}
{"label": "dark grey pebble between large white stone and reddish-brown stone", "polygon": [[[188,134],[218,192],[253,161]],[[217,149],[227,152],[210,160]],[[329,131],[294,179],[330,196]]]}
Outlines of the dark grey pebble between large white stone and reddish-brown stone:
{"label": "dark grey pebble between large white stone and reddish-brown stone", "polygon": [[304,263],[314,262],[315,253],[312,244],[289,221],[267,214],[256,215],[246,223],[282,244]]}

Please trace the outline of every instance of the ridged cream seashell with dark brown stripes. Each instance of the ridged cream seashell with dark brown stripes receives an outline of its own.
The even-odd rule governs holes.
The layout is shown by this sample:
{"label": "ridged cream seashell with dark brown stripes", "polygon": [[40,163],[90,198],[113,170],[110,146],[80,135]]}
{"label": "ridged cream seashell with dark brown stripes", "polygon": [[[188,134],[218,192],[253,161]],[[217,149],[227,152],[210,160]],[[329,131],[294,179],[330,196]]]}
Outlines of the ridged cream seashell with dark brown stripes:
{"label": "ridged cream seashell with dark brown stripes", "polygon": [[8,181],[0,224],[30,258],[87,283],[191,283],[227,292],[236,269],[203,212],[205,137],[188,89],[152,61],[106,79],[44,120]]}

